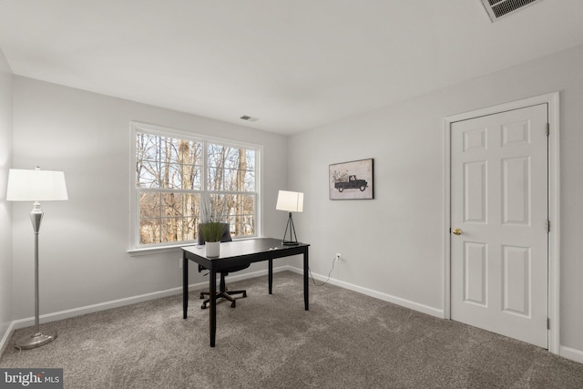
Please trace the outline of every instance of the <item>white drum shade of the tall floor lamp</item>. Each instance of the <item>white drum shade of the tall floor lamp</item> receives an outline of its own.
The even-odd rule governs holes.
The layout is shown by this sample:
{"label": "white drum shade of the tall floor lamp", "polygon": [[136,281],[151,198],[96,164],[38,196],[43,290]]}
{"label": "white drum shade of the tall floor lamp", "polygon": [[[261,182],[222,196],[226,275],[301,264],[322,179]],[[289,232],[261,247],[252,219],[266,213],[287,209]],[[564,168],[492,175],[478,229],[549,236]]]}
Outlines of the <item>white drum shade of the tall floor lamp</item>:
{"label": "white drum shade of the tall floor lamp", "polygon": [[68,200],[65,173],[51,170],[10,169],[8,201]]}

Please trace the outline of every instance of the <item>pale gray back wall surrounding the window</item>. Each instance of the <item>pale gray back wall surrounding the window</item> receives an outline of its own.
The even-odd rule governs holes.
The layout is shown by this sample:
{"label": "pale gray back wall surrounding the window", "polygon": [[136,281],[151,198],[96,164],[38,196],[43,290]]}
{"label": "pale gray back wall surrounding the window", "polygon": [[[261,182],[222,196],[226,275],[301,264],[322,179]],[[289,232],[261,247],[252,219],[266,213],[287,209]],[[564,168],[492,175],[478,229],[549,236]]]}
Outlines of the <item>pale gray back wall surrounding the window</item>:
{"label": "pale gray back wall surrounding the window", "polygon": [[[264,146],[263,230],[287,182],[287,138],[25,77],[14,78],[14,167],[65,171],[68,201],[42,203],[40,311],[61,312],[181,285],[179,250],[130,256],[130,121]],[[13,320],[34,314],[32,204],[13,205]],[[263,267],[266,269],[266,264]],[[191,282],[207,280],[191,267]],[[256,264],[251,270],[262,269]]]}

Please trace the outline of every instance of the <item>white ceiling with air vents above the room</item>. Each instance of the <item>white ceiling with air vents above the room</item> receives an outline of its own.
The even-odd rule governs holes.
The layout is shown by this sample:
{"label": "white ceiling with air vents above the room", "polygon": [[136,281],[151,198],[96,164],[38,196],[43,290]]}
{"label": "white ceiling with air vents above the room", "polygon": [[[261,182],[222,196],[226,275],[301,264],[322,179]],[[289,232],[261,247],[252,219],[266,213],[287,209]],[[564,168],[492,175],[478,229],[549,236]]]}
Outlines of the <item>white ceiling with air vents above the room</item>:
{"label": "white ceiling with air vents above the room", "polygon": [[0,48],[15,75],[292,134],[581,45],[582,19],[581,0],[496,23],[480,0],[0,0]]}

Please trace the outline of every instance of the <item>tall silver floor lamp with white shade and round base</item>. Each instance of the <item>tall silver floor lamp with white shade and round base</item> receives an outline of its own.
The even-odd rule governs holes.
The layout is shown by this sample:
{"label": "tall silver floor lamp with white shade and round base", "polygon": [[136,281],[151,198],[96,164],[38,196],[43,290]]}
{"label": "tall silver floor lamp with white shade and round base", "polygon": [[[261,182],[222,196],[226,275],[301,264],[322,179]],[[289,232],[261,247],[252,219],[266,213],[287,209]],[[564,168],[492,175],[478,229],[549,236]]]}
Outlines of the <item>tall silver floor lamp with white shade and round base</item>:
{"label": "tall silver floor lamp with white shade and round base", "polygon": [[40,332],[38,319],[38,231],[43,220],[43,210],[39,201],[68,200],[65,174],[62,171],[10,169],[8,172],[8,201],[34,201],[30,220],[35,231],[35,333],[19,339],[15,346],[28,350],[55,340],[56,333],[45,335]]}

